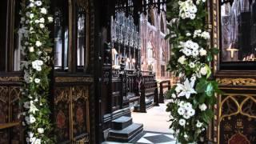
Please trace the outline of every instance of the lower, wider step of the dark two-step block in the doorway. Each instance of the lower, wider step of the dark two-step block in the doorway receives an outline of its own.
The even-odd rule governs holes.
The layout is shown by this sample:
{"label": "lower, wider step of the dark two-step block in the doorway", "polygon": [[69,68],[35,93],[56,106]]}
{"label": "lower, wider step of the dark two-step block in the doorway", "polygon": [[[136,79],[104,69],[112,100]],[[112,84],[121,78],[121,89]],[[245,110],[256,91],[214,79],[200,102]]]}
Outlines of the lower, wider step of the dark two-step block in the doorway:
{"label": "lower, wider step of the dark two-step block in the doorway", "polygon": [[132,142],[134,138],[138,138],[143,132],[143,125],[133,123],[122,130],[110,130],[109,141],[113,142]]}

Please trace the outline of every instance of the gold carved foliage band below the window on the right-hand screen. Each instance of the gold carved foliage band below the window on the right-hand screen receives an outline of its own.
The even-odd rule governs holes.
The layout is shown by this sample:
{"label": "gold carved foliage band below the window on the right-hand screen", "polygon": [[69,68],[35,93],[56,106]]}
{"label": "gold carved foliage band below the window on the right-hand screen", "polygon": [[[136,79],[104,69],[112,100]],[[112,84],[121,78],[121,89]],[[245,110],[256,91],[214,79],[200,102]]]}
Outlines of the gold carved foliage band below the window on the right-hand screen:
{"label": "gold carved foliage band below the window on the right-hand screen", "polygon": [[256,86],[255,78],[216,78],[222,86]]}

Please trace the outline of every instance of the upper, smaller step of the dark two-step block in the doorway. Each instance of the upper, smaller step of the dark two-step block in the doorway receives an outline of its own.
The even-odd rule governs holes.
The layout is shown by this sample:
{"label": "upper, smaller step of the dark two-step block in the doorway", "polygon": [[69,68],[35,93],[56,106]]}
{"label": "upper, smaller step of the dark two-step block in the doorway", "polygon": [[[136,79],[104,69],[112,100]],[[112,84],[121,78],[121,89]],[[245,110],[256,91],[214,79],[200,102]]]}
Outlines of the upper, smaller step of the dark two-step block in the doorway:
{"label": "upper, smaller step of the dark two-step block in the doorway", "polygon": [[133,119],[131,117],[122,116],[112,121],[112,129],[122,130],[125,129],[127,126],[130,126],[132,123]]}

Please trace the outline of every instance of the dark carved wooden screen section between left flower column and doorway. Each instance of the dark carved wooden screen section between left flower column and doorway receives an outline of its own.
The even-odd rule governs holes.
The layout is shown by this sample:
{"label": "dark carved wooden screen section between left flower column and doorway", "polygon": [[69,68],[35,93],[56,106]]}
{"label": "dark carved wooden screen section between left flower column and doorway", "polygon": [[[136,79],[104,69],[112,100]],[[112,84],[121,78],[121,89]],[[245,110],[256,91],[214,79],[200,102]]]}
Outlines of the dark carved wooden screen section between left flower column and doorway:
{"label": "dark carved wooden screen section between left flower column and doorway", "polygon": [[[91,143],[94,17],[86,0],[54,1],[54,134],[58,143]],[[90,39],[91,38],[91,39]],[[92,109],[93,110],[93,109]]]}

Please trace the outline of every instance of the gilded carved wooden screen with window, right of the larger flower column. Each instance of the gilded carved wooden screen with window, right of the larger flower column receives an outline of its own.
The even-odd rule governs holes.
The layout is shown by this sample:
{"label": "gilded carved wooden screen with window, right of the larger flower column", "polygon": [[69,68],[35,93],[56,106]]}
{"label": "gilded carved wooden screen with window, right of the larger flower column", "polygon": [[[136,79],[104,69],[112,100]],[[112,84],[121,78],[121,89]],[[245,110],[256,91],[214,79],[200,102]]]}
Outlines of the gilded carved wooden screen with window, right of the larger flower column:
{"label": "gilded carved wooden screen with window, right of the larger flower column", "polygon": [[[245,15],[249,16],[248,18],[254,15],[247,14],[248,10],[254,13],[254,9],[247,9],[249,6],[253,8],[253,3],[249,0],[213,0],[208,5],[209,23],[212,28],[211,46],[219,47],[221,51],[220,55],[214,58],[214,74],[224,92],[222,95],[216,95],[218,104],[214,106],[214,121],[210,126],[212,131],[209,130],[210,138],[216,143],[255,143],[255,62],[253,57],[247,58],[246,55],[253,56],[254,50],[251,47],[254,46],[254,39],[245,39],[245,31],[254,37],[254,34],[251,34],[254,25],[250,25],[252,21],[249,22],[245,18]],[[238,6],[238,9],[234,6]],[[238,10],[237,15],[230,14],[232,10]],[[238,25],[231,24],[232,18],[238,18]],[[251,30],[246,30],[247,28]],[[229,37],[226,35],[229,33],[238,34]],[[231,41],[232,39],[234,41]],[[246,58],[243,55],[246,55]]]}

